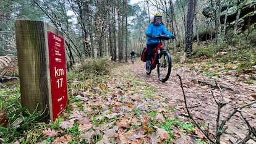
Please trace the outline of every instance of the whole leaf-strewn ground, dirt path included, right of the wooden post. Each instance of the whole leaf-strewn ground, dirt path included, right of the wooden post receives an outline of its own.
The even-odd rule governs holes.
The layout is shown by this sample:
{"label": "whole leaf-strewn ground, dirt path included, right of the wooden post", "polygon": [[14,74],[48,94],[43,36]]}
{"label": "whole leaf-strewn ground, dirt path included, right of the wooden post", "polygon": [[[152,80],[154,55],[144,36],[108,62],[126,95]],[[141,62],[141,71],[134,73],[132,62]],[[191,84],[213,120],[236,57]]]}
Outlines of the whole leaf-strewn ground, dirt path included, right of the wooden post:
{"label": "whole leaf-strewn ground, dirt path included, right of the wooden post", "polygon": [[[28,130],[31,134],[27,135],[26,142],[205,143],[207,138],[192,125],[188,116],[177,74],[181,76],[192,117],[202,129],[208,131],[211,138],[216,133],[218,113],[213,96],[216,101],[223,98],[226,103],[221,109],[220,122],[237,108],[255,101],[256,97],[255,80],[244,81],[250,75],[255,77],[255,72],[238,74],[236,63],[234,66],[228,64],[231,67],[229,70],[223,68],[222,64],[209,66],[207,62],[174,64],[171,76],[165,83],[158,80],[156,69],[148,76],[145,62],[139,58],[135,64],[130,61],[113,64],[116,67],[108,75],[90,77],[79,73],[79,76],[70,78],[71,98],[66,111],[52,125]],[[255,103],[242,108],[241,113],[251,127],[256,127]],[[247,137],[249,128],[242,116],[236,112],[229,119],[225,125],[228,129],[221,135],[221,144],[238,143]],[[37,135],[38,139],[34,140],[33,135]],[[11,142],[13,139],[9,140]],[[15,143],[22,143],[23,140],[26,138],[21,135]],[[1,142],[4,139],[0,137]],[[247,143],[255,142],[250,140]]]}

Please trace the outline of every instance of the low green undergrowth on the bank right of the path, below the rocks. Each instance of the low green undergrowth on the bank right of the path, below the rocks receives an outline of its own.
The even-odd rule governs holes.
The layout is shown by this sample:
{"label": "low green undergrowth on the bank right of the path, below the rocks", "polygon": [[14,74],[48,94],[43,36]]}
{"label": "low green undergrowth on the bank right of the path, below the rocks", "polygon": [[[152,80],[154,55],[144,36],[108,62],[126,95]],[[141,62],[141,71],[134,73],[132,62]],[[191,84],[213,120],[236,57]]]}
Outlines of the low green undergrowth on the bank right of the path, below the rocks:
{"label": "low green undergrowth on the bank right of the path, below the rocks", "polygon": [[[193,67],[194,64],[200,64],[204,73],[209,73],[211,67],[220,67],[215,71],[210,71],[210,75],[218,75],[218,72],[236,70],[235,75],[252,75],[244,79],[245,83],[252,83],[255,80],[256,71],[256,30],[247,30],[244,33],[233,35],[233,31],[222,36],[218,44],[194,44],[192,53],[186,54],[186,64]],[[181,53],[182,55],[182,53]],[[182,56],[174,56],[177,60]],[[202,63],[203,62],[203,63]],[[178,64],[177,64],[178,65]],[[204,66],[205,65],[205,66]],[[214,68],[213,68],[214,69]],[[220,75],[219,75],[220,76]]]}

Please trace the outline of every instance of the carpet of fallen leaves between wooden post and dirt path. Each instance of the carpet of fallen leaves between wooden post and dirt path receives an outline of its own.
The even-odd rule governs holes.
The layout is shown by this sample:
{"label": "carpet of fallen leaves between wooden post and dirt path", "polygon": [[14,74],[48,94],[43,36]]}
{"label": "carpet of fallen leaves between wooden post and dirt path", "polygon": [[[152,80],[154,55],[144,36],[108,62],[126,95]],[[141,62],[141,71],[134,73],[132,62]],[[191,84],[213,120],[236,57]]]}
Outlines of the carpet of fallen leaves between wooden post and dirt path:
{"label": "carpet of fallen leaves between wooden post and dirt path", "polygon": [[[72,90],[69,111],[62,114],[59,124],[69,133],[59,130],[59,138],[87,143],[171,143],[174,138],[187,142],[190,136],[186,133],[193,133],[179,125],[161,128],[166,119],[174,119],[181,112],[174,112],[161,91],[136,78],[127,64],[114,68],[96,84],[75,80],[70,85],[77,90]],[[179,120],[189,122],[186,117]],[[79,135],[70,131],[75,126]]]}

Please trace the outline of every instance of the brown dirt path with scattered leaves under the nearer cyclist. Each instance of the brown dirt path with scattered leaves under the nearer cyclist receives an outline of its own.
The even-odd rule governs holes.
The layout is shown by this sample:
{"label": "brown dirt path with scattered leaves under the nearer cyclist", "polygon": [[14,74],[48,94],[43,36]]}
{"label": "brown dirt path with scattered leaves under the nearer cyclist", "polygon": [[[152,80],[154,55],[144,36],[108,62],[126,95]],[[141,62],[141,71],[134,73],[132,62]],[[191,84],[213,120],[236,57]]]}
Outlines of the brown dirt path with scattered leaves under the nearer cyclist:
{"label": "brown dirt path with scattered leaves under the nearer cyclist", "polygon": [[[186,67],[179,69],[172,69],[171,77],[165,83],[158,80],[156,69],[152,71],[151,75],[145,74],[145,63],[136,59],[135,64],[129,62],[129,68],[134,72],[137,78],[142,79],[145,83],[159,88],[163,91],[164,95],[168,97],[169,102],[176,105],[176,109],[183,114],[187,114],[184,104],[184,96],[177,74],[181,75],[184,91],[187,96],[187,104],[190,108],[192,116],[202,124],[208,125],[210,132],[216,131],[216,117],[218,108],[211,95],[208,85],[202,85],[203,82],[215,83],[215,81],[222,86],[224,101],[227,103],[221,109],[221,120],[228,116],[234,109],[243,106],[244,104],[251,103],[254,99],[251,95],[256,93],[256,85],[246,85],[238,82],[236,78],[229,75],[222,76],[221,78],[209,78],[203,76],[197,70],[190,70]],[[256,83],[254,81],[254,83]],[[223,88],[225,87],[225,88]],[[218,88],[213,89],[213,94],[216,99],[221,100],[221,93]],[[250,125],[256,127],[256,104],[242,109],[242,114],[247,117]],[[245,138],[249,132],[247,125],[242,120],[241,115],[236,113],[228,122],[228,129],[221,137],[224,143],[236,143]],[[256,143],[250,140],[247,143]]]}

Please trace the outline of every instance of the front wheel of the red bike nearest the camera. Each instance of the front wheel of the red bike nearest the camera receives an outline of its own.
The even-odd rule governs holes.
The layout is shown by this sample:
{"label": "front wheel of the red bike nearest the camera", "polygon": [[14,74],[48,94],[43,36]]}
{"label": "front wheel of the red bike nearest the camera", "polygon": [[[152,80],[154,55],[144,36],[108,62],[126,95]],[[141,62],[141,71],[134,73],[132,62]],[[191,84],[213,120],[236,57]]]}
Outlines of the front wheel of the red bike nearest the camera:
{"label": "front wheel of the red bike nearest the camera", "polygon": [[161,82],[166,82],[171,74],[171,55],[168,51],[161,51],[157,65],[158,78]]}

